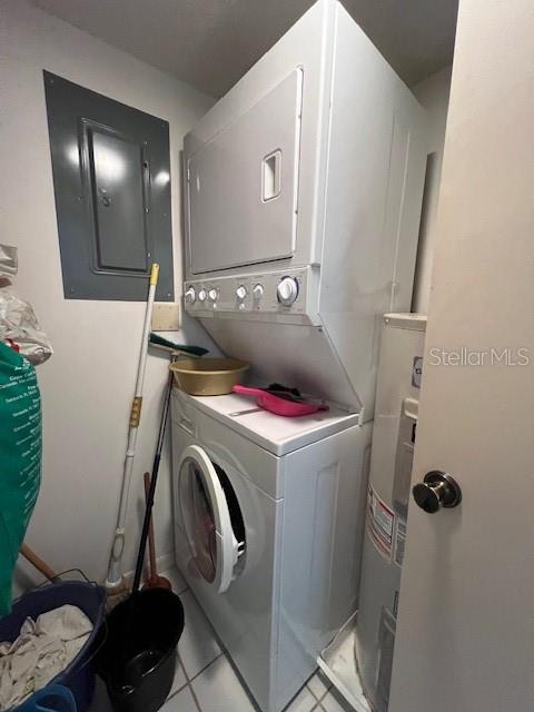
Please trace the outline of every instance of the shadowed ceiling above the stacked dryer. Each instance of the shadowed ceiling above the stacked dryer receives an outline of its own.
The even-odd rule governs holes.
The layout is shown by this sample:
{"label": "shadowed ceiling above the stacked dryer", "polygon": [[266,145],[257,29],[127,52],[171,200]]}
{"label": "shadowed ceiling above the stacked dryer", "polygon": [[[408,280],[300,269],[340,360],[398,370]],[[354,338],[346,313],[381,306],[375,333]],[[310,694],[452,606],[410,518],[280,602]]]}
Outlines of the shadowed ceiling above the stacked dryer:
{"label": "shadowed ceiling above the stacked dryer", "polygon": [[[214,97],[313,0],[32,0]],[[457,0],[343,0],[408,86],[451,63]]]}

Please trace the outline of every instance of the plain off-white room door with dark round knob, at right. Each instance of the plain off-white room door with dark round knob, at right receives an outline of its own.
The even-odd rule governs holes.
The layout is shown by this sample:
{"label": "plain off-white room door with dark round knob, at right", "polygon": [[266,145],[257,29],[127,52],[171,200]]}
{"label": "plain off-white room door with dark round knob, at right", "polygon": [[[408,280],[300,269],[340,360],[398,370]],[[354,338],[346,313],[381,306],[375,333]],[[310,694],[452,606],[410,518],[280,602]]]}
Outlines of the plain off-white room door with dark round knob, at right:
{"label": "plain off-white room door with dark round knob, at right", "polygon": [[532,0],[459,2],[438,226],[389,712],[532,712]]}

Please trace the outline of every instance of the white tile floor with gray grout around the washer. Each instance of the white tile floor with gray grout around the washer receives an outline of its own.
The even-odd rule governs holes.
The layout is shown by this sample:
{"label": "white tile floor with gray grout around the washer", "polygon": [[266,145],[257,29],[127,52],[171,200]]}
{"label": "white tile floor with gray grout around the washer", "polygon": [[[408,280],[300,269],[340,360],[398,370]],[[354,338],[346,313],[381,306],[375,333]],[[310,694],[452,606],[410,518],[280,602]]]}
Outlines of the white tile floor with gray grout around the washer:
{"label": "white tile floor with gray grout around the washer", "polygon": [[[175,682],[161,712],[257,712],[201,609],[177,570],[168,572],[180,594],[187,625],[178,646]],[[288,705],[287,712],[348,712],[350,708],[316,672]],[[112,712],[98,681],[90,712]]]}

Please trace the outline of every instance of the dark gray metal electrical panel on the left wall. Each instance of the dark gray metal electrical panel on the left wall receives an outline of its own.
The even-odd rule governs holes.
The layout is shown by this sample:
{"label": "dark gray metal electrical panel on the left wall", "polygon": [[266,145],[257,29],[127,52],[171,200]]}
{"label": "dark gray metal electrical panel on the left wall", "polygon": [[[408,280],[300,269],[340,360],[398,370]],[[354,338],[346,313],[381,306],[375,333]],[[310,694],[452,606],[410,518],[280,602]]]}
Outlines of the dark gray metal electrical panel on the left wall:
{"label": "dark gray metal electrical panel on the left wall", "polygon": [[168,122],[43,77],[66,298],[174,300]]}

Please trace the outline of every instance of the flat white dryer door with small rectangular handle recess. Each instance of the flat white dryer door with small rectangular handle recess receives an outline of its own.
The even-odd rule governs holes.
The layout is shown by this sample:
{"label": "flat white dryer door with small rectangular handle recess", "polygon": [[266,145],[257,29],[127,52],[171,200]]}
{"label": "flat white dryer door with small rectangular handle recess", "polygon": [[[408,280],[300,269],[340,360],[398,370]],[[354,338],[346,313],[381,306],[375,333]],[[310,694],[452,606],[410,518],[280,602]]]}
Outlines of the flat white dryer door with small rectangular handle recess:
{"label": "flat white dryer door with small rectangular handle recess", "polygon": [[187,158],[194,274],[293,257],[303,70]]}

